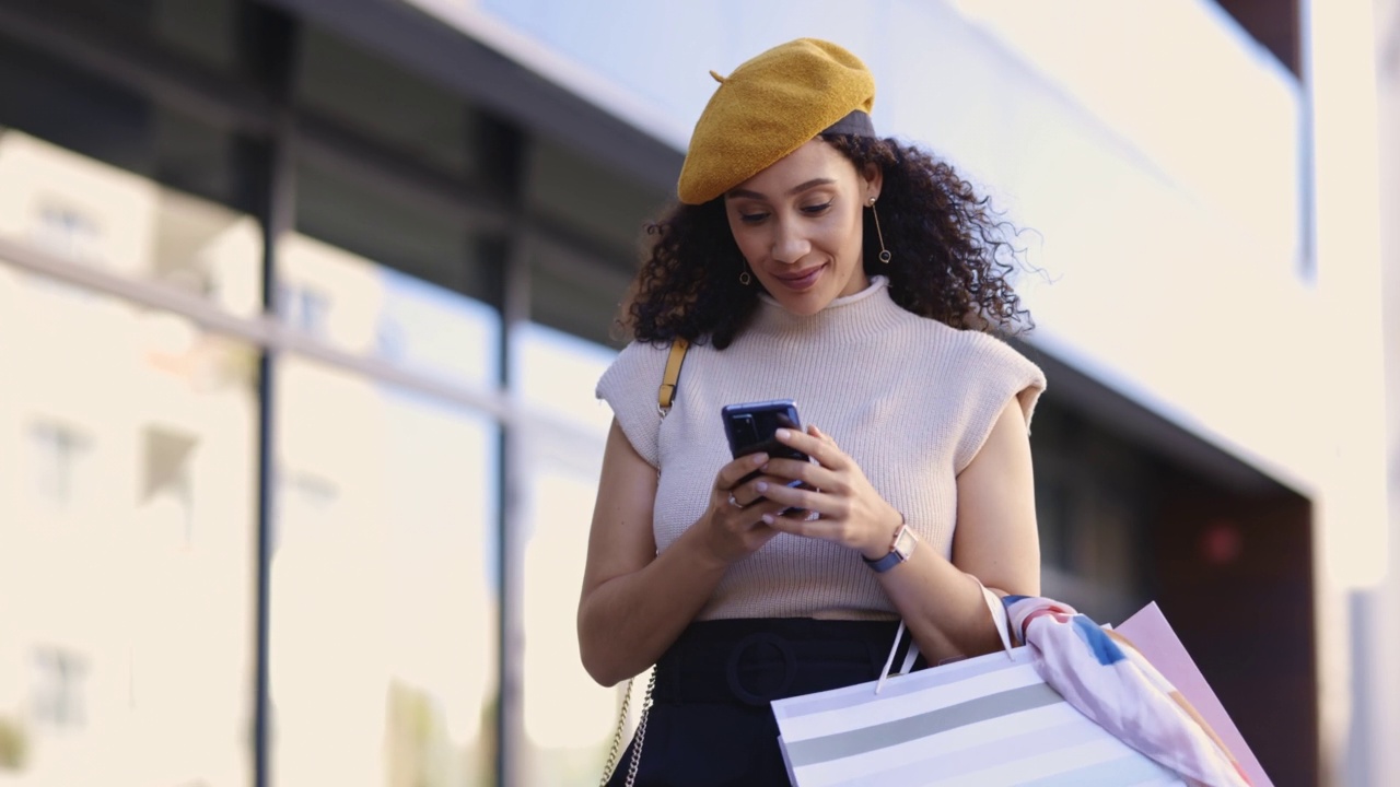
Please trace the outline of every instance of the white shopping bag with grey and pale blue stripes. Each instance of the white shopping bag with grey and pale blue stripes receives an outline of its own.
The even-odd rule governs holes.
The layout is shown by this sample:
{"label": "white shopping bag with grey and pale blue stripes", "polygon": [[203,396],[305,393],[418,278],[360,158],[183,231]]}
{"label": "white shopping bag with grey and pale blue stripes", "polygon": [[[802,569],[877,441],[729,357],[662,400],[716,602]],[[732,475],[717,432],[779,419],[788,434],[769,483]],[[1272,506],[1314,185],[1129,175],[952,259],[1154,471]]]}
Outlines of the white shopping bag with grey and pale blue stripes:
{"label": "white shopping bag with grey and pale blue stripes", "polygon": [[1068,704],[1028,647],[876,683],[773,703],[792,784],[1184,784]]}

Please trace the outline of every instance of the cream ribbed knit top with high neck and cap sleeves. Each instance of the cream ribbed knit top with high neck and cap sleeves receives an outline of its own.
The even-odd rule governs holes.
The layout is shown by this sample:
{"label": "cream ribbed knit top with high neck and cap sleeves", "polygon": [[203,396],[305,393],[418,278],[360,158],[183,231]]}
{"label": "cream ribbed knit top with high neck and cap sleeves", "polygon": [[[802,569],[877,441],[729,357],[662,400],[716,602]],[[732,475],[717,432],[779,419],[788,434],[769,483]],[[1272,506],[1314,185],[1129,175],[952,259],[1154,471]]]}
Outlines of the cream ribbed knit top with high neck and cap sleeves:
{"label": "cream ribbed knit top with high neck and cap sleeves", "polygon": [[[658,471],[652,531],[665,550],[706,511],[731,459],[720,408],[794,399],[904,514],[921,549],[952,555],[955,479],[1016,396],[1030,422],[1040,368],[1007,343],[917,316],[875,276],[861,293],[798,316],[762,295],[729,347],[693,344],[671,413],[657,413],[669,347],[633,343],[598,384],[623,433]],[[780,534],[729,566],[699,619],[893,619],[895,606],[855,550]]]}

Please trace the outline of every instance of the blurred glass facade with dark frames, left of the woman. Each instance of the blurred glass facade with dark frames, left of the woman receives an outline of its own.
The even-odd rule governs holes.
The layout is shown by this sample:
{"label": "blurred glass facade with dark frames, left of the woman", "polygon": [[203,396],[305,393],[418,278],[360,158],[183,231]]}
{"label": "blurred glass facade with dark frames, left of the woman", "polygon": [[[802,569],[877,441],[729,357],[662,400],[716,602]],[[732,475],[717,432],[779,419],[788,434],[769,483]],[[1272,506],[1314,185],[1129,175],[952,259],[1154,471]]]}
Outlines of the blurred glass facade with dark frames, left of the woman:
{"label": "blurred glass facade with dark frames, left of the woman", "polygon": [[662,195],[239,0],[7,4],[0,183],[0,783],[596,777]]}

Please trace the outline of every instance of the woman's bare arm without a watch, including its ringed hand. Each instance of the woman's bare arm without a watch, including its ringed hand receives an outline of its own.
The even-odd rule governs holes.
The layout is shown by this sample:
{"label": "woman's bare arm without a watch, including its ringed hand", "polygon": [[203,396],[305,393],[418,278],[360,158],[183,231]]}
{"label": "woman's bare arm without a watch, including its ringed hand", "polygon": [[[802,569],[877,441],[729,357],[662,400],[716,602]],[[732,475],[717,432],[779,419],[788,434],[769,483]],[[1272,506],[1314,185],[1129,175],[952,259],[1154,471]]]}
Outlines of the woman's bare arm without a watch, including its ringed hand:
{"label": "woman's bare arm without a watch, including its ringed hand", "polygon": [[578,650],[595,681],[610,686],[655,664],[700,613],[729,563],[777,535],[755,520],[778,511],[778,504],[750,507],[748,521],[729,504],[738,480],[766,459],[743,457],[721,468],[706,515],[657,555],[657,471],[613,422],[578,602]]}

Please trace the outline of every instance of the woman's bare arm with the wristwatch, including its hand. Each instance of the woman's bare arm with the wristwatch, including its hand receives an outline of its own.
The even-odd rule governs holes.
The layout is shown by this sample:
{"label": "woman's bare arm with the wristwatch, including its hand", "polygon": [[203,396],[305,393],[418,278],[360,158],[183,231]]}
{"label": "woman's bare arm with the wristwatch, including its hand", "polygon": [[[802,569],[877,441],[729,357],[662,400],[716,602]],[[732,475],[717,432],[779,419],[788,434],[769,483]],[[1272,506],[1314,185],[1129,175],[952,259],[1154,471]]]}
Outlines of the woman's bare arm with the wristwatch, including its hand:
{"label": "woman's bare arm with the wristwatch, including its hand", "polygon": [[[888,555],[902,515],[871,487],[855,462],[819,430],[780,440],[819,465],[774,459],[771,472],[799,478],[820,492],[781,485],[762,492],[822,517],[812,522],[778,517],[773,527],[844,543],[871,560]],[[876,576],[931,664],[1000,646],[973,577],[1002,594],[1040,592],[1030,440],[1016,401],[1005,406],[986,444],[958,476],[952,560],[921,543],[909,560]]]}

